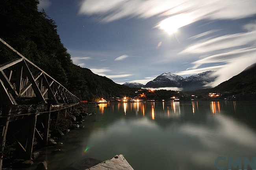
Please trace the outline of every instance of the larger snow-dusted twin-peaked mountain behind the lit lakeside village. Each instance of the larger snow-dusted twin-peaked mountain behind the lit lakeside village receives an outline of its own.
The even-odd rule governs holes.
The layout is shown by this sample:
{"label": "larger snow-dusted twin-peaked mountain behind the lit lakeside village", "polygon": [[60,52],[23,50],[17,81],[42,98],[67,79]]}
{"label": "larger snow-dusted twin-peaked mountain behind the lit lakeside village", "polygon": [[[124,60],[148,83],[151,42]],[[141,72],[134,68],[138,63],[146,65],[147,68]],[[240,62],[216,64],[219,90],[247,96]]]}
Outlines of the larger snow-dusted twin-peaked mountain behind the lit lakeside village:
{"label": "larger snow-dusted twin-peaked mountain behind the lit lakeside village", "polygon": [[183,90],[198,90],[213,82],[217,77],[211,77],[214,71],[206,71],[197,75],[183,78],[173,73],[163,73],[156,79],[149,81],[144,88],[178,87]]}

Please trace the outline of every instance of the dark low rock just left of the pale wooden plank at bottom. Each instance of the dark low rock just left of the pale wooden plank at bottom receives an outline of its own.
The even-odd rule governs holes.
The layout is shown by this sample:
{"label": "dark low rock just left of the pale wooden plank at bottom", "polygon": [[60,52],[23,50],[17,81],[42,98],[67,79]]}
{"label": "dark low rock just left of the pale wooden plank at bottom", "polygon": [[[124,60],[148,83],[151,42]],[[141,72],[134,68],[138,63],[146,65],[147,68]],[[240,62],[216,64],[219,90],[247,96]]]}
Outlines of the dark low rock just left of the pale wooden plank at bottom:
{"label": "dark low rock just left of the pale wooden plank at bottom", "polygon": [[102,163],[102,161],[93,158],[85,158],[81,161],[72,163],[68,168],[65,168],[65,170],[84,170],[98,165],[99,163]]}

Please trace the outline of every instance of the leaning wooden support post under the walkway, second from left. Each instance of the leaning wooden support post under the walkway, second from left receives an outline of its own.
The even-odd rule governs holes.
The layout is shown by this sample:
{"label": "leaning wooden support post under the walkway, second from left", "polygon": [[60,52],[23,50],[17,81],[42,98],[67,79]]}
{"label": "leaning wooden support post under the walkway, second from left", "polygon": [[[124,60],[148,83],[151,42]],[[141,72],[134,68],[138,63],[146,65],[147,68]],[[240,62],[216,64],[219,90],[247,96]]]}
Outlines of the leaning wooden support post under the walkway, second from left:
{"label": "leaning wooden support post under the walkway, second from left", "polygon": [[35,137],[35,125],[37,123],[37,114],[30,115],[30,125],[28,130],[28,142],[26,147],[26,159],[31,161],[32,151],[33,151],[33,143]]}

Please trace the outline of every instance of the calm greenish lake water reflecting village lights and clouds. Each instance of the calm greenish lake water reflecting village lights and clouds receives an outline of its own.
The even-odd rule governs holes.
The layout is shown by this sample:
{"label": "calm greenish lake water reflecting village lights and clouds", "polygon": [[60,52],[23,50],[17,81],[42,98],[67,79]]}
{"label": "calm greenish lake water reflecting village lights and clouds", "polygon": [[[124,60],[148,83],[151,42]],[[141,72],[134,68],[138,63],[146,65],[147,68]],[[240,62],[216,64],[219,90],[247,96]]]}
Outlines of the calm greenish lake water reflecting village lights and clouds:
{"label": "calm greenish lake water reflecting village lights and clouds", "polygon": [[110,103],[86,112],[96,114],[84,118],[85,128],[41,150],[37,161],[59,170],[122,154],[135,170],[216,170],[220,155],[256,156],[256,102]]}

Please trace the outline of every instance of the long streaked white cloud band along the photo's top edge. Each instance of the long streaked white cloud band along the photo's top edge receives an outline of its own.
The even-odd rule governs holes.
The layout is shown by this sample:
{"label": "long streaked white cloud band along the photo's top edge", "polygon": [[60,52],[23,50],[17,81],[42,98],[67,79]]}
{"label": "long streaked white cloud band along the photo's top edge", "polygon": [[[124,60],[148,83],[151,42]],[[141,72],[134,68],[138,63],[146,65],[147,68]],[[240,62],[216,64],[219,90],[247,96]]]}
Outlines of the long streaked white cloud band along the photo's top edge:
{"label": "long streaked white cloud band along the photo's top edge", "polygon": [[99,15],[103,22],[124,17],[150,18],[156,15],[187,14],[191,23],[203,18],[245,18],[256,14],[256,11],[255,0],[83,0],[79,13]]}

